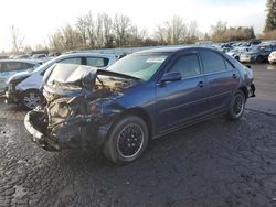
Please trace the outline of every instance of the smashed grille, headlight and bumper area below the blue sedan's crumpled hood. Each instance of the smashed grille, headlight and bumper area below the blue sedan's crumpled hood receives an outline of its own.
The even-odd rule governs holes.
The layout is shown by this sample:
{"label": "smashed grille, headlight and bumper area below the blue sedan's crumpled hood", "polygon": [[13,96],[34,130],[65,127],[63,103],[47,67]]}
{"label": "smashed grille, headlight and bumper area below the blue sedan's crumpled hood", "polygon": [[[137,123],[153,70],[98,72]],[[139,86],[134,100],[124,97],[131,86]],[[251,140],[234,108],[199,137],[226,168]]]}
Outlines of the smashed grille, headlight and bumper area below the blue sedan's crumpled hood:
{"label": "smashed grille, headlight and bumper area below the blue sedan's crumpled hood", "polygon": [[28,112],[24,119],[32,140],[49,151],[97,145],[98,124],[83,98],[59,98]]}

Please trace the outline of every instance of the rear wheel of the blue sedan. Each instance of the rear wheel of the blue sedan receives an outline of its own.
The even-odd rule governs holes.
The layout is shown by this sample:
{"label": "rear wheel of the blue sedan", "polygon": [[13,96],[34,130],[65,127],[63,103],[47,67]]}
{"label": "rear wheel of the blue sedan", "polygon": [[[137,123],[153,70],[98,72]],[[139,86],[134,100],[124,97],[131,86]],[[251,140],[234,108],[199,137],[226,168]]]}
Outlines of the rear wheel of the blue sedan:
{"label": "rear wheel of the blue sedan", "polygon": [[229,112],[226,115],[227,120],[238,120],[243,113],[245,108],[245,95],[242,90],[237,90],[235,95],[232,97],[230,102]]}

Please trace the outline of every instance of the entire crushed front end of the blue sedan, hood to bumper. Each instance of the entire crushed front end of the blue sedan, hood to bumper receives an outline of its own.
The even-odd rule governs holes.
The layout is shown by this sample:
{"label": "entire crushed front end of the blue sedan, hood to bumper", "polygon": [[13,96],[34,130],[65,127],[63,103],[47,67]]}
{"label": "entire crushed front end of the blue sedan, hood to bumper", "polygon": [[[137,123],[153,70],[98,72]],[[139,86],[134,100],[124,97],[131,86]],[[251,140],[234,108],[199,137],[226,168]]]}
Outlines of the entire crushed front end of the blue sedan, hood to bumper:
{"label": "entire crushed front end of the blue sedan, hood to bumper", "polygon": [[46,101],[28,112],[24,126],[32,141],[47,151],[98,148],[115,117],[124,111],[114,97],[135,83],[88,66],[54,65],[44,75]]}

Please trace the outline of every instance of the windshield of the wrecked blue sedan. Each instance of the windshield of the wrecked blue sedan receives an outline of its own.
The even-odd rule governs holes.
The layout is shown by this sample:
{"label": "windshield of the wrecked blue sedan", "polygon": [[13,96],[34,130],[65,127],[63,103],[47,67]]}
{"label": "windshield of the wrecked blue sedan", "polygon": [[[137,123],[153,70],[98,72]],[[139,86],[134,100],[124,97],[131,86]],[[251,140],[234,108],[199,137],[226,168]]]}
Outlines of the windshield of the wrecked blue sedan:
{"label": "windshield of the wrecked blue sedan", "polygon": [[168,53],[132,54],[119,59],[107,69],[146,81],[155,75],[168,55]]}

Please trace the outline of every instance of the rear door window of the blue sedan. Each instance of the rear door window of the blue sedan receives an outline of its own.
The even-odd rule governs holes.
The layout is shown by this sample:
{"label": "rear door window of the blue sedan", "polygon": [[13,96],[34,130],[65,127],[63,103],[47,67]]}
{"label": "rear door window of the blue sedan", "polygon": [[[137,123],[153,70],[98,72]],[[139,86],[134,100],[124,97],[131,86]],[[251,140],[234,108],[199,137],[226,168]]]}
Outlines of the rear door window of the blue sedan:
{"label": "rear door window of the blue sedan", "polygon": [[201,51],[200,55],[205,74],[226,70],[224,58],[220,54],[212,51]]}

